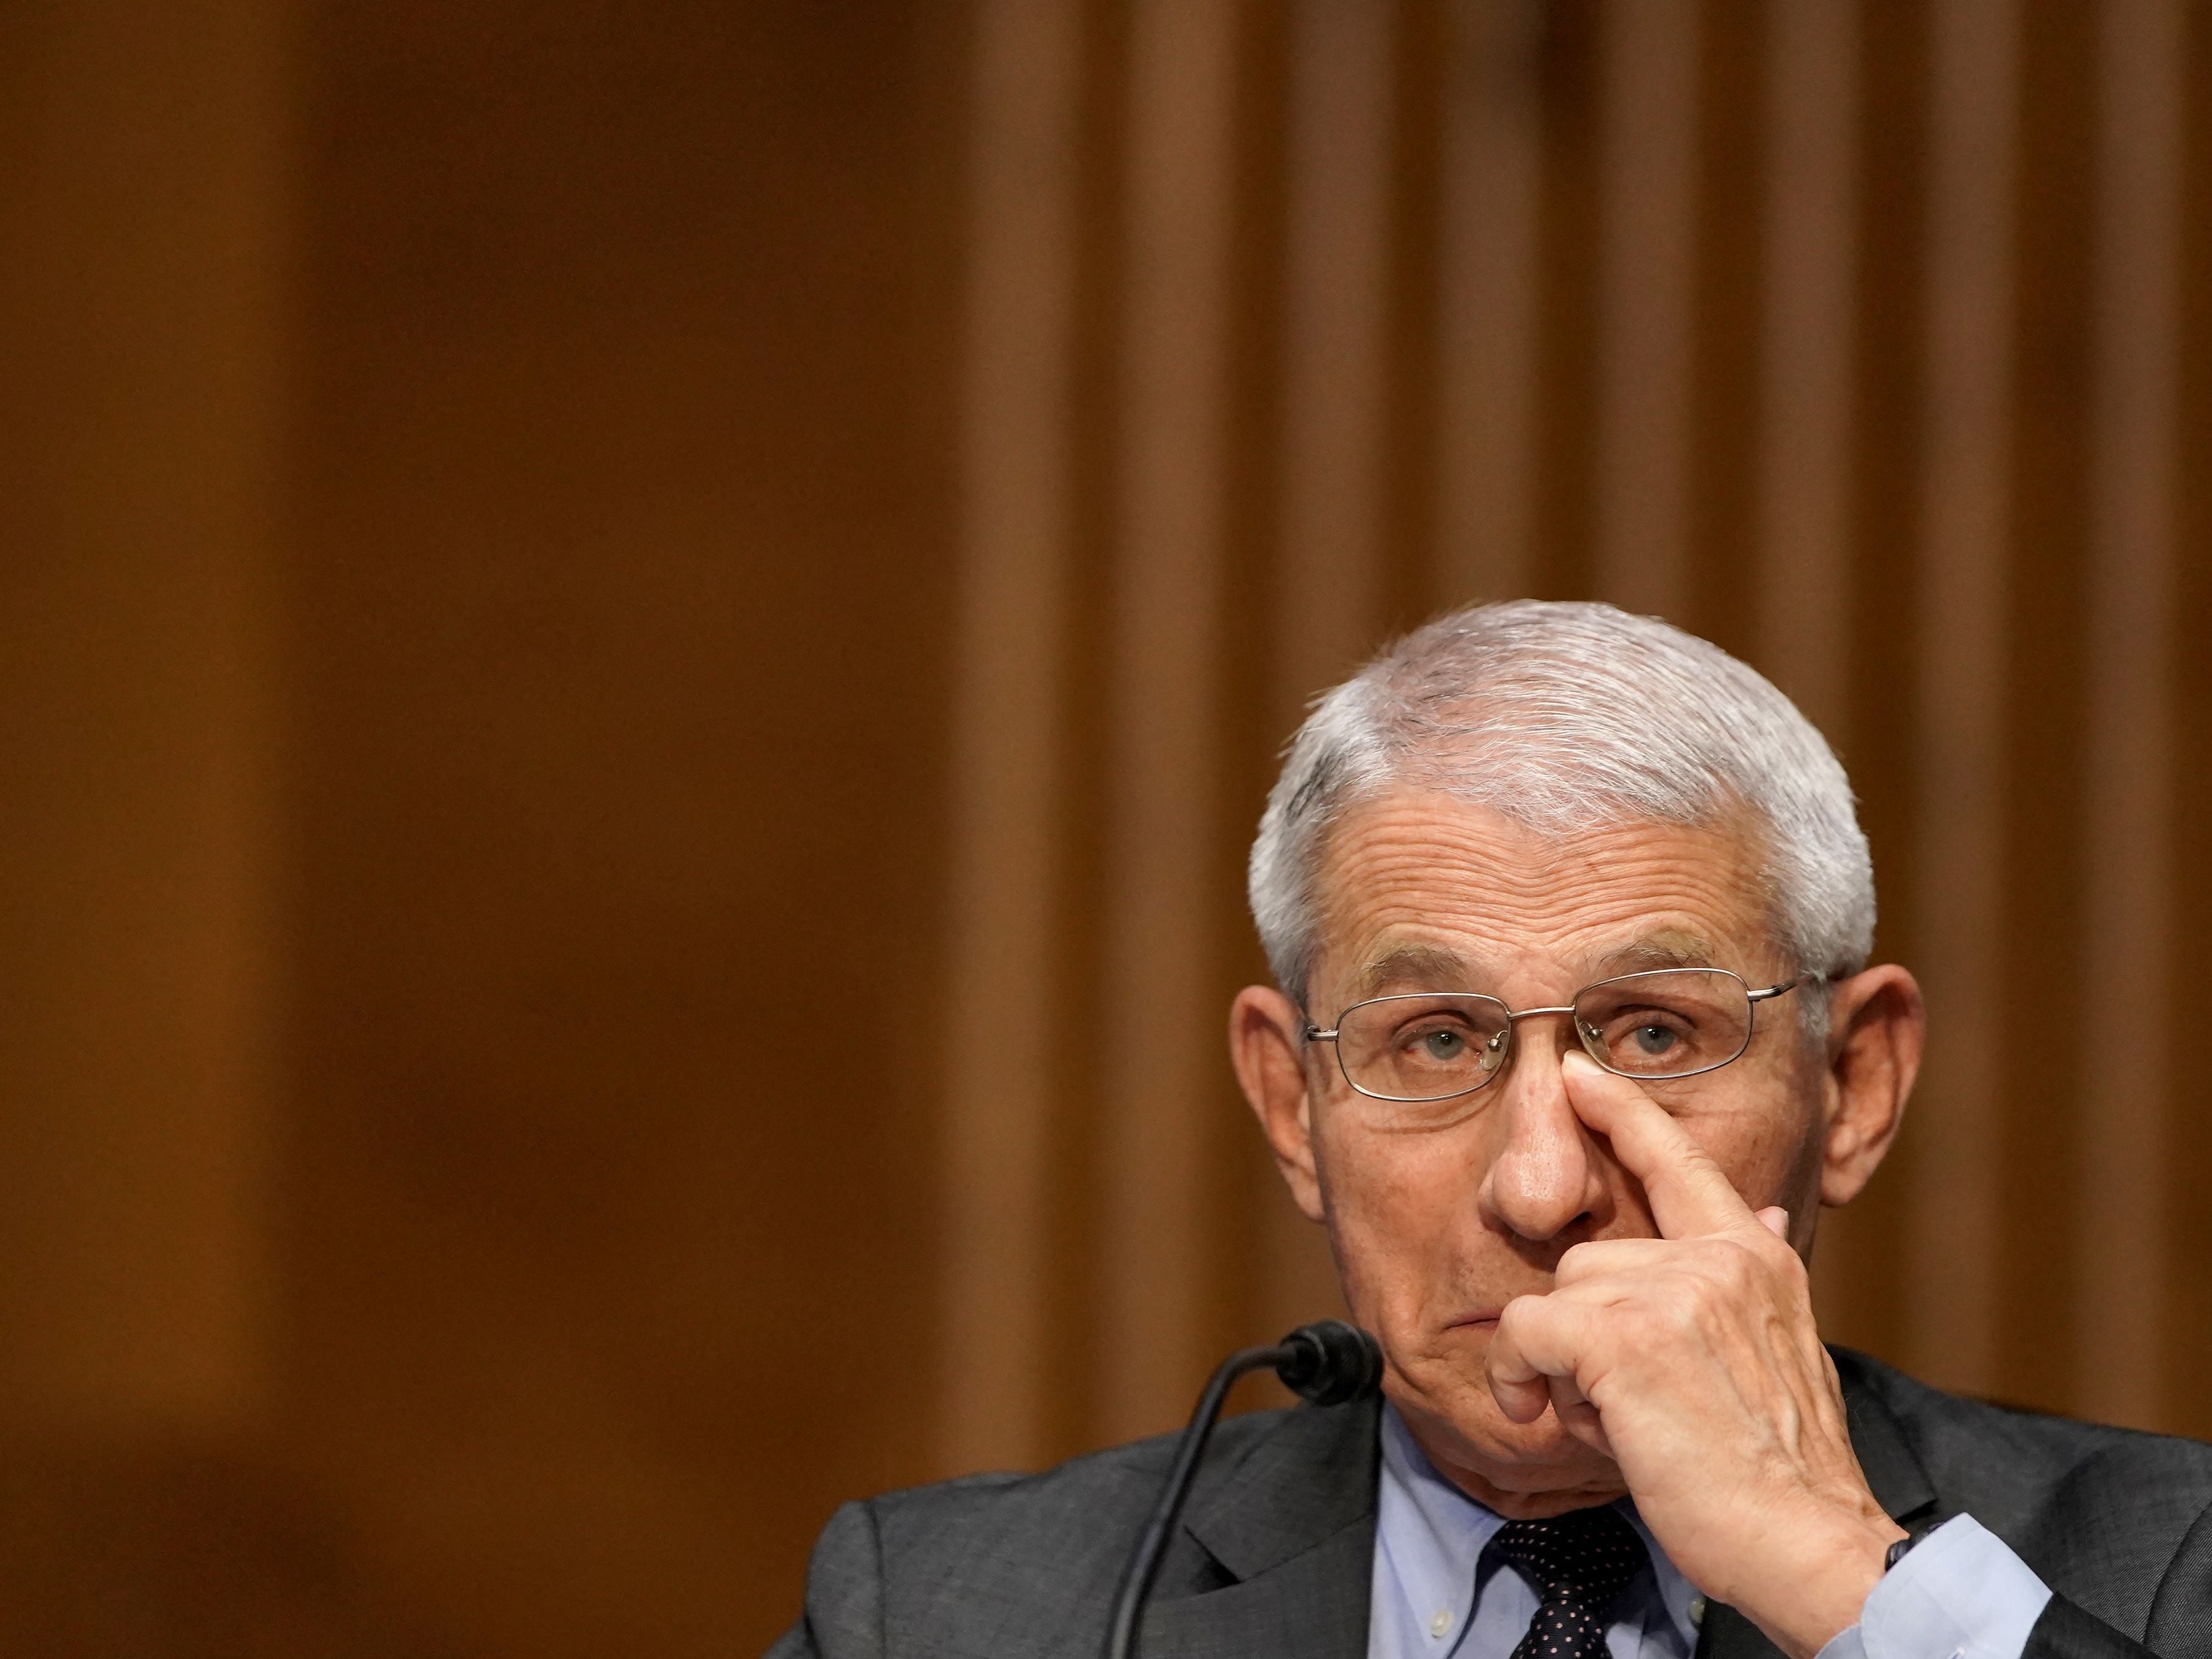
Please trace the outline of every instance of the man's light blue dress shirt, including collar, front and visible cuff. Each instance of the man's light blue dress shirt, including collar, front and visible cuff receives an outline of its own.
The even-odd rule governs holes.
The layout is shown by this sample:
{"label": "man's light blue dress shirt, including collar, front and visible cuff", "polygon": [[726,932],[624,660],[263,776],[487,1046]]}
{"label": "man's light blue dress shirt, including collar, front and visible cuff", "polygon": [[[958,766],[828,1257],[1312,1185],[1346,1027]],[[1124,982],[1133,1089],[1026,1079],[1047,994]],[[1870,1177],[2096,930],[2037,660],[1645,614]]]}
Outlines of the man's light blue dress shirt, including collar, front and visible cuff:
{"label": "man's light blue dress shirt, including collar, front and visible cuff", "polygon": [[[1705,1597],[1652,1542],[1635,1504],[1619,1511],[1648,1571],[1613,1606],[1613,1659],[1690,1659]],[[1509,1659],[1537,1595],[1484,1546],[1504,1517],[1462,1493],[1383,1407],[1383,1482],[1376,1493],[1374,1593],[1367,1659]],[[2020,1659],[2051,1590],[1971,1515],[1916,1544],[1867,1595],[1860,1621],[1818,1659]]]}

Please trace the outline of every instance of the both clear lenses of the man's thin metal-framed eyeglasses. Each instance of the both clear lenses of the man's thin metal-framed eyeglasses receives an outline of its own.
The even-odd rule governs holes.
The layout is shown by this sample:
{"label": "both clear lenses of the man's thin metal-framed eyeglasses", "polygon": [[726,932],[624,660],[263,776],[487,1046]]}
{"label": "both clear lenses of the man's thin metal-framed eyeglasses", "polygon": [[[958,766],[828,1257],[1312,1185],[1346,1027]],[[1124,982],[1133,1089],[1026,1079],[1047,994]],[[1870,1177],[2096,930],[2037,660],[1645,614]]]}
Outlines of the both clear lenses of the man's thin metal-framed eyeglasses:
{"label": "both clear lenses of the man's thin metal-framed eyeglasses", "polygon": [[[1624,1077],[1725,1066],[1752,1037],[1752,1000],[1725,969],[1659,969],[1601,980],[1575,998],[1575,1035]],[[1513,1046],[1504,1002],[1471,993],[1394,995],[1345,1009],[1345,1077],[1378,1099],[1449,1099],[1491,1082]]]}

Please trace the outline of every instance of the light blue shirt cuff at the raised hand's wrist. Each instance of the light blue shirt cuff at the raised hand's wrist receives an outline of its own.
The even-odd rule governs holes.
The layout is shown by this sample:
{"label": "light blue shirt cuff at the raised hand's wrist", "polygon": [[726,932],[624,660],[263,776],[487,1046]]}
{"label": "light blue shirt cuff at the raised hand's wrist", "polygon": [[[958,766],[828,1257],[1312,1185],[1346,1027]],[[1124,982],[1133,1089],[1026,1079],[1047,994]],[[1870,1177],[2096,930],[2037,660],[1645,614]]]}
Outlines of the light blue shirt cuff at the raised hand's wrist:
{"label": "light blue shirt cuff at the raised hand's wrist", "polygon": [[2048,1599],[1995,1533],[1953,1515],[1876,1579],[1818,1659],[2020,1659]]}

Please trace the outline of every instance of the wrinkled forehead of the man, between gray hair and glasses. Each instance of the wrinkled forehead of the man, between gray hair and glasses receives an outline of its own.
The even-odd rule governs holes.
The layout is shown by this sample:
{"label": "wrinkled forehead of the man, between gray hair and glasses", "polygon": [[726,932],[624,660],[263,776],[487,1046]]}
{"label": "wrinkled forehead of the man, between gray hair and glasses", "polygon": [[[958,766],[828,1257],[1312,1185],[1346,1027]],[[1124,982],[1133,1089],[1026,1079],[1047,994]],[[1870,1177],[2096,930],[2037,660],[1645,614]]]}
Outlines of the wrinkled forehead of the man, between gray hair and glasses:
{"label": "wrinkled forehead of the man, between gray hair and glasses", "polygon": [[1340,998],[1504,984],[1551,995],[1655,967],[1785,971],[1765,843],[1743,814],[1553,832],[1400,790],[1338,818],[1316,898],[1314,991]]}

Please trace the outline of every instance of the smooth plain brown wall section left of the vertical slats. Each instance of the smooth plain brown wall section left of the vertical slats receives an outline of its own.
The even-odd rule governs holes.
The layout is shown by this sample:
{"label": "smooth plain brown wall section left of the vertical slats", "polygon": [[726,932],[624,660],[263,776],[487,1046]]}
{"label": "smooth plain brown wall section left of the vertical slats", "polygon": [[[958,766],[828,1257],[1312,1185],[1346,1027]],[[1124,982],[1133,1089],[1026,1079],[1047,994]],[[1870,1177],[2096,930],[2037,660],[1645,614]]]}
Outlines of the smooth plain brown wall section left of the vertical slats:
{"label": "smooth plain brown wall section left of the vertical slats", "polygon": [[929,1473],[962,53],[0,24],[11,1652],[757,1652]]}

